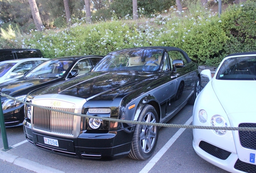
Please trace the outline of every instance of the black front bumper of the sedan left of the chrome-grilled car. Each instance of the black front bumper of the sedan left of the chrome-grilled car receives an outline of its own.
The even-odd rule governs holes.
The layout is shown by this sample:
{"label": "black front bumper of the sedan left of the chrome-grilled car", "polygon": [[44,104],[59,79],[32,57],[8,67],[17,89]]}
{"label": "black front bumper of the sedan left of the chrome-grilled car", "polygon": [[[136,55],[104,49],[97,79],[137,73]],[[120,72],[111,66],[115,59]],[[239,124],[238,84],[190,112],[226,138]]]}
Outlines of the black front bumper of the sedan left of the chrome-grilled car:
{"label": "black front bumper of the sedan left of the chrome-grilled car", "polygon": [[24,120],[24,104],[3,110],[5,127],[20,126]]}

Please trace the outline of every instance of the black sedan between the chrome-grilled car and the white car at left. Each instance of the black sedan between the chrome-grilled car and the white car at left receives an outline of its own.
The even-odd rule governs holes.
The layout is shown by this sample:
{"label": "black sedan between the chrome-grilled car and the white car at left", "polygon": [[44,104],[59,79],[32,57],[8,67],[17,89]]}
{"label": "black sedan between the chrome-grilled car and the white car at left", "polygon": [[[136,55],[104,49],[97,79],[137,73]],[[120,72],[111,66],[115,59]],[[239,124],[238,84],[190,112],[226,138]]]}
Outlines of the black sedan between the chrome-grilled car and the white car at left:
{"label": "black sedan between the chrome-grilled car and the white car at left", "polygon": [[[62,80],[89,72],[103,56],[66,56],[47,60],[16,80],[0,84],[0,92],[25,100],[27,93]],[[24,104],[1,97],[6,127],[22,125]]]}

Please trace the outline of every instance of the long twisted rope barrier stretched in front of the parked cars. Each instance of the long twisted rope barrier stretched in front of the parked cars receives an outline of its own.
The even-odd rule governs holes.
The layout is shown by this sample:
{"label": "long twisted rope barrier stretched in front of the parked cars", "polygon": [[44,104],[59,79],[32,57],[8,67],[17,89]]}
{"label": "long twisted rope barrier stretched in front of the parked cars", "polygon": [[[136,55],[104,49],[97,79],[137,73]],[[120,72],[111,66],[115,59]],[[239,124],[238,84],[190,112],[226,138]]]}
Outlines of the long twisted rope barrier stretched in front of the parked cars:
{"label": "long twisted rope barrier stretched in front of the parked cars", "polygon": [[35,105],[32,103],[28,103],[19,99],[16,99],[14,97],[11,97],[10,95],[6,95],[4,93],[0,93],[2,97],[6,97],[8,99],[12,99],[15,101],[18,101],[20,103],[24,103],[33,107],[38,107],[41,109],[46,109],[49,111],[56,111],[59,113],[65,113],[70,115],[76,115],[80,117],[85,118],[93,118],[93,119],[102,119],[105,121],[112,121],[112,122],[118,122],[118,123],[127,123],[127,124],[134,124],[134,125],[149,125],[149,126],[159,126],[159,127],[171,127],[171,128],[186,128],[186,129],[211,129],[211,130],[231,130],[231,131],[256,131],[255,127],[212,127],[212,126],[196,126],[196,125],[175,125],[175,124],[164,124],[164,123],[148,123],[148,122],[140,122],[140,121],[129,121],[129,120],[122,120],[122,119],[113,119],[113,118],[107,118],[107,117],[97,117],[97,116],[91,116],[91,115],[84,115],[79,113],[70,113],[67,111],[61,111],[57,109],[47,108],[39,105]]}

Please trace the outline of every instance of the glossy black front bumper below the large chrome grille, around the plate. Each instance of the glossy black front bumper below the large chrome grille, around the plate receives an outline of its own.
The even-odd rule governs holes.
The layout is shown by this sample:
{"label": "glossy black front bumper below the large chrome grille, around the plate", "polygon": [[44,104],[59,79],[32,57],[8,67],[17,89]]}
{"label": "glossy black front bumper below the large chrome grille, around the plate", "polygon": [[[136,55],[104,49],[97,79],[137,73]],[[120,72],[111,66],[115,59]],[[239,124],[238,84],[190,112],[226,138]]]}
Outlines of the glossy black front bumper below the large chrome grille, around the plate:
{"label": "glossy black front bumper below the large chrome grille, around the plate", "polygon": [[[133,133],[124,130],[107,133],[81,132],[77,138],[57,137],[33,131],[31,124],[23,121],[26,139],[33,145],[46,151],[80,159],[113,160],[128,156]],[[44,143],[44,137],[58,140],[59,147]]]}

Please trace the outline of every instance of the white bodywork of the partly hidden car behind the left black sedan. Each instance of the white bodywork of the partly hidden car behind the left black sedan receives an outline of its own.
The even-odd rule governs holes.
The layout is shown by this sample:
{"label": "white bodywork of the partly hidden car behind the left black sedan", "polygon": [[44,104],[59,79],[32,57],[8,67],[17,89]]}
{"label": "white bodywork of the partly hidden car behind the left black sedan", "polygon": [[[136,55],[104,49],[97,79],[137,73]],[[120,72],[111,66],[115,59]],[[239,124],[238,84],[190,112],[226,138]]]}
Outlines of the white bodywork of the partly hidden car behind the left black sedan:
{"label": "white bodywork of the partly hidden car behind the left black sedan", "polygon": [[[8,64],[14,64],[11,68],[6,70],[6,72],[3,75],[1,75],[0,84],[3,83],[3,82],[8,82],[10,80],[21,78],[24,74],[17,74],[16,72],[13,72],[13,71],[15,69],[17,69],[17,67],[19,65],[23,64],[24,62],[29,62],[29,61],[34,61],[35,62],[37,60],[44,60],[45,61],[45,60],[48,60],[48,59],[49,58],[22,58],[22,59],[6,60],[6,61],[0,62],[0,66],[3,64],[3,67],[7,66]],[[37,66],[37,65],[39,65],[39,64],[36,64],[35,66]],[[33,68],[35,68],[35,66],[33,66]],[[31,70],[31,69],[29,69],[29,70]]]}

